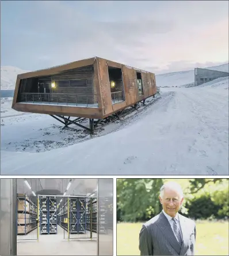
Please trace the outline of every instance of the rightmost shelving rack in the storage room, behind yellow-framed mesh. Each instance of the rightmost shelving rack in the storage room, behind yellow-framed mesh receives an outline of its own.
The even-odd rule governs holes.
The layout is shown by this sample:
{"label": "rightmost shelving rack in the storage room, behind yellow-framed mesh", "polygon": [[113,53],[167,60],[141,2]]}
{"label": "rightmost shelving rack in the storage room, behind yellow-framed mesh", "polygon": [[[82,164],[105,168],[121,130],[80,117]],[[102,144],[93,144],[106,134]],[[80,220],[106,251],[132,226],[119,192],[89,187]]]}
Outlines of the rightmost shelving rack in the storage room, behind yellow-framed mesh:
{"label": "rightmost shelving rack in the storage room, behind yellow-framed mesh", "polygon": [[89,198],[86,207],[86,229],[97,232],[97,198]]}

